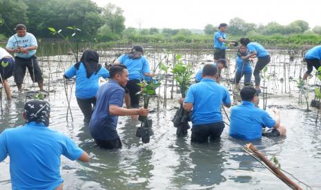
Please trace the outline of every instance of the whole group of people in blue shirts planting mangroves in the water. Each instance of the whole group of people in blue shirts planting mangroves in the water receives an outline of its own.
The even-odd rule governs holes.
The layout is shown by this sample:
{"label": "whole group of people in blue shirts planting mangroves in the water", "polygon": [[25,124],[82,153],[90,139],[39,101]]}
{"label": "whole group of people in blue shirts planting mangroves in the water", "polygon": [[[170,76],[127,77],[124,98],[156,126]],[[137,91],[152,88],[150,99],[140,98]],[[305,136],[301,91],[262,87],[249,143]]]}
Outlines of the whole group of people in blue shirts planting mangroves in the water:
{"label": "whole group of people in blue shirts planting mangroves in the water", "polygon": [[[228,67],[225,51],[227,25],[221,23],[214,34],[214,63],[206,64],[197,72],[196,83],[180,100],[187,112],[191,113],[191,142],[204,143],[209,139],[220,138],[225,124],[221,108],[231,107],[228,89],[220,84],[221,72]],[[43,78],[37,57],[37,40],[26,32],[26,25],[18,24],[17,34],[8,40],[6,50],[0,47],[1,83],[6,89],[6,97],[11,98],[8,78],[14,76],[19,92],[28,68],[33,82],[43,91]],[[258,108],[260,94],[260,72],[271,61],[259,43],[250,39],[240,39],[235,63],[235,84],[244,76],[244,87],[240,90],[242,103],[231,107],[229,136],[243,140],[260,139],[262,136],[285,136],[286,129],[280,125],[280,111],[274,109],[274,118]],[[14,53],[14,58],[10,53]],[[255,87],[251,86],[252,67],[250,62],[257,58],[253,71]],[[313,67],[318,69],[321,60],[321,45],[313,47],[305,56],[308,70],[306,79]],[[118,116],[148,116],[149,110],[139,107],[141,87],[137,85],[145,76],[154,77],[144,49],[135,45],[130,52],[119,56],[106,70],[99,64],[99,54],[86,50],[79,62],[72,65],[64,78],[75,76],[77,103],[84,114],[84,122],[96,144],[104,149],[122,147],[117,134]],[[109,78],[99,87],[99,78]],[[126,107],[123,107],[124,101]],[[60,156],[70,160],[88,162],[86,151],[77,147],[70,138],[48,128],[50,104],[43,100],[28,101],[23,109],[26,124],[22,127],[6,129],[0,134],[0,161],[10,156],[12,189],[62,189],[64,180],[59,174]],[[265,130],[265,128],[269,128]]]}

